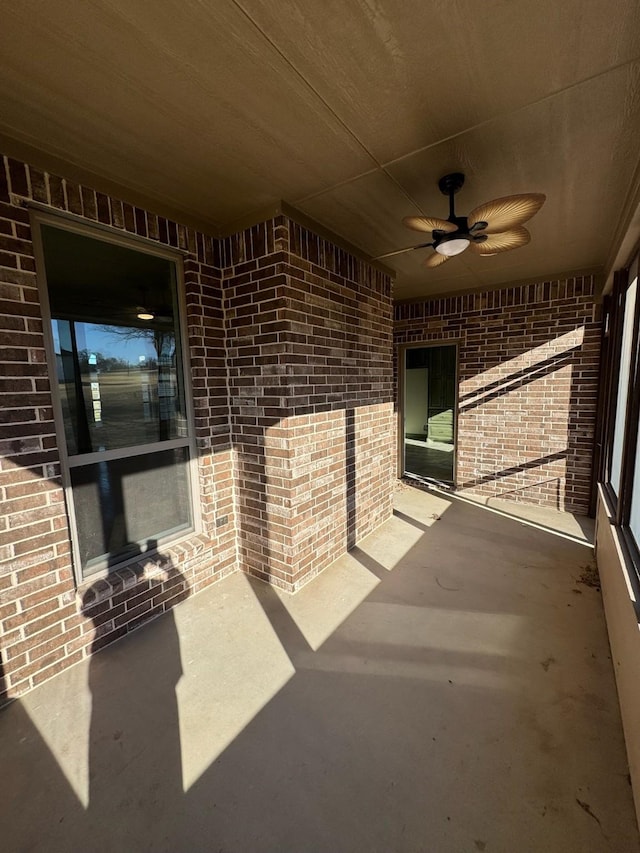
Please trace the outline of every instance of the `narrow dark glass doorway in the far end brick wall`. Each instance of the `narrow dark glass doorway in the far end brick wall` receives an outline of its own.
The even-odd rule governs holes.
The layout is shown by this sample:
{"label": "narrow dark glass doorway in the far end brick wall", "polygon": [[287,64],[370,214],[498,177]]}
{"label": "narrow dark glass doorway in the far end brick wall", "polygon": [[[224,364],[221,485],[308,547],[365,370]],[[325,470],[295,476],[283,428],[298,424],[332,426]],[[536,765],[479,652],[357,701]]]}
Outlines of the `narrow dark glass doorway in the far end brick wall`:
{"label": "narrow dark glass doorway in the far end brick wall", "polygon": [[407,347],[403,368],[402,472],[453,485],[457,348]]}

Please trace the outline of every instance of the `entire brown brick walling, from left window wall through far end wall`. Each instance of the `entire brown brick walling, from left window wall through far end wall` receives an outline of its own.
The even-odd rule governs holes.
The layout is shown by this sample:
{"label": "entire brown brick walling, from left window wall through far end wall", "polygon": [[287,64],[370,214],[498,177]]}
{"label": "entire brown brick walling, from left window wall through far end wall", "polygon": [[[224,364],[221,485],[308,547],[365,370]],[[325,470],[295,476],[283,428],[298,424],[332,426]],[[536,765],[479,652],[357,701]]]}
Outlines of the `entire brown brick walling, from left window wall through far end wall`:
{"label": "entire brown brick walling, from left window wall through far end wall", "polygon": [[[25,201],[184,253],[202,528],[76,587]],[[218,241],[0,160],[0,702],[237,567],[295,590],[391,513],[391,282],[287,217]],[[587,507],[590,279],[401,305],[457,342],[458,485]]]}

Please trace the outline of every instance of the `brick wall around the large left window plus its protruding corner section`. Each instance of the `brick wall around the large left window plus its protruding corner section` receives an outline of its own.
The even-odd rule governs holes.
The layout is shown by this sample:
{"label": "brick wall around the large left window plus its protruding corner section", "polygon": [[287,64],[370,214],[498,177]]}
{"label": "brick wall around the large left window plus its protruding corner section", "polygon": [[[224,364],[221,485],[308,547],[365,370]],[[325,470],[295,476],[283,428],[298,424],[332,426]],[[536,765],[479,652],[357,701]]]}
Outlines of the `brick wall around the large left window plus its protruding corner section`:
{"label": "brick wall around the large left window plus its protruding corner section", "polygon": [[[78,588],[25,202],[180,249],[201,530]],[[216,240],[0,158],[0,704],[236,568],[297,589],[391,513],[391,282],[280,217]]]}

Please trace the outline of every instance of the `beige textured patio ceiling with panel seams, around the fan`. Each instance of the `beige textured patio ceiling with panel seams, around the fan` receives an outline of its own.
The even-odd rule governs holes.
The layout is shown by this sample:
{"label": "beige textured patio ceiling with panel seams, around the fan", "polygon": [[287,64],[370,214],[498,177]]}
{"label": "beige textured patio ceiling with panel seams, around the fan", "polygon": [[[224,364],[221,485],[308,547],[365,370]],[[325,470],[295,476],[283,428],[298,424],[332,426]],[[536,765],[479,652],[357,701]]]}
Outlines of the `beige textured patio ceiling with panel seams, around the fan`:
{"label": "beige textured patio ceiling with panel seams, around the fan", "polygon": [[531,243],[390,259],[399,299],[605,270],[640,156],[637,0],[5,4],[7,153],[224,232],[284,201],[376,256],[403,216],[543,192]]}

